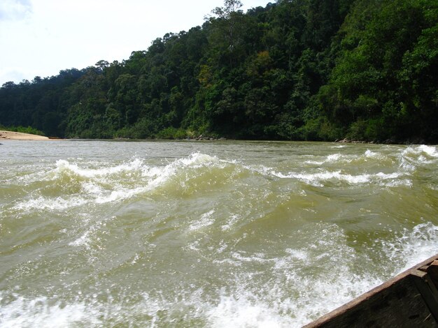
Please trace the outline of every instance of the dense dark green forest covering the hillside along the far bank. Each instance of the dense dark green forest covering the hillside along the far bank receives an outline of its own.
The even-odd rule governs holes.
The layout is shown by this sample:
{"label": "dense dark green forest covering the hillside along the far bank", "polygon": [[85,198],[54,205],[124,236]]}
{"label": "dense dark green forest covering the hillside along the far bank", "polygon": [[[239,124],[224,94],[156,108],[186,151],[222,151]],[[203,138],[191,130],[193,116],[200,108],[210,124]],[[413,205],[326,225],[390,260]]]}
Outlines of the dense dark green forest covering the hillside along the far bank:
{"label": "dense dark green forest covering the hillside along the far bank", "polygon": [[225,0],[202,27],[0,88],[0,124],[80,138],[438,141],[436,0]]}

